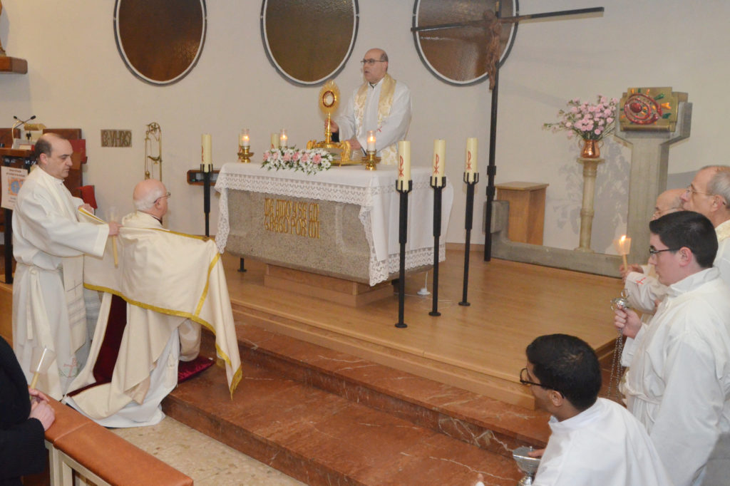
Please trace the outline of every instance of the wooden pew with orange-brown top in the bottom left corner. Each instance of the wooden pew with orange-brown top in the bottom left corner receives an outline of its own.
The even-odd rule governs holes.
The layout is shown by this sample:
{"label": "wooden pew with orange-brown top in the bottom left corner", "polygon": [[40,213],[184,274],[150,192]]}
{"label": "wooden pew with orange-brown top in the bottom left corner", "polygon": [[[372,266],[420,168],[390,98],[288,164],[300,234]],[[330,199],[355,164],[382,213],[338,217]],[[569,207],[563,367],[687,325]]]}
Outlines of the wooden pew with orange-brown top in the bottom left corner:
{"label": "wooden pew with orange-brown top in the bottom left corner", "polygon": [[115,433],[51,399],[55,422],[45,433],[51,486],[72,486],[73,471],[96,485],[192,485],[193,479]]}

